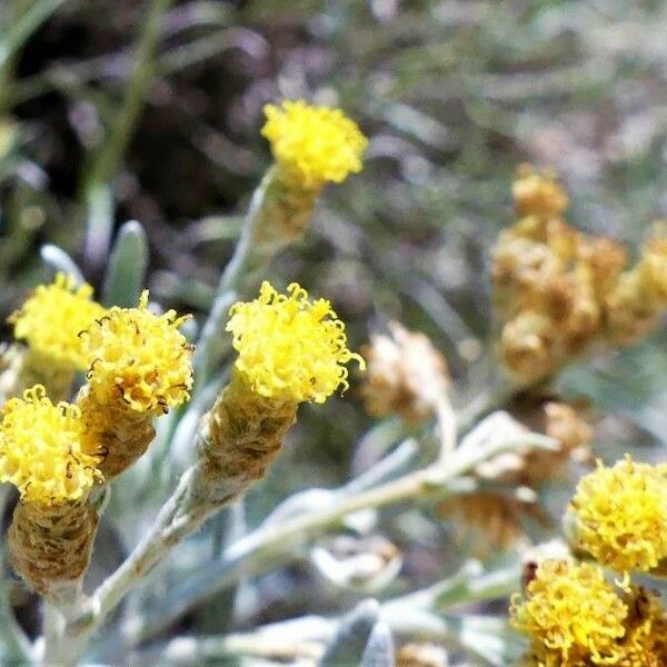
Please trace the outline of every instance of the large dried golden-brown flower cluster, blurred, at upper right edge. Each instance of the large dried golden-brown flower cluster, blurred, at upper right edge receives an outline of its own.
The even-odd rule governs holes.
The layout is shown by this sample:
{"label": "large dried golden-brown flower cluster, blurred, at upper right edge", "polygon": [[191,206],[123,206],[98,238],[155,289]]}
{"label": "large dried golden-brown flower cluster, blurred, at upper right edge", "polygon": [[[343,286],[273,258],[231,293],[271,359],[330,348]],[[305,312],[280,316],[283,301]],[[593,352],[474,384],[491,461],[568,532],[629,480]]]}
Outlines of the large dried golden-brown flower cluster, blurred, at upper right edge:
{"label": "large dried golden-brown flower cluster, blurred, at upper right edge", "polygon": [[593,344],[628,345],[667,307],[667,239],[658,229],[627,269],[625,249],[563,219],[567,196],[551,173],[519,169],[517,221],[494,249],[501,359],[519,384],[558,370]]}

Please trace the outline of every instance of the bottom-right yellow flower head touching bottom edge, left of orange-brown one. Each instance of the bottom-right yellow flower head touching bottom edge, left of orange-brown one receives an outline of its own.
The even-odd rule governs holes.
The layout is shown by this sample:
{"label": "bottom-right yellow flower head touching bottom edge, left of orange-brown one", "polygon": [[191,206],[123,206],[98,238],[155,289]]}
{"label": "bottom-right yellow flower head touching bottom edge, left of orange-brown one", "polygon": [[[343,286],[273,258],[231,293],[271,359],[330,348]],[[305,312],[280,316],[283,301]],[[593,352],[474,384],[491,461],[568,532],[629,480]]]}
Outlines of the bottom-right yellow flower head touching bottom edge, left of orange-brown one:
{"label": "bottom-right yellow flower head touching bottom edge, left of orange-brown one", "polygon": [[581,667],[609,664],[628,609],[599,567],[545,560],[524,597],[512,597],[510,614],[530,638],[536,664]]}

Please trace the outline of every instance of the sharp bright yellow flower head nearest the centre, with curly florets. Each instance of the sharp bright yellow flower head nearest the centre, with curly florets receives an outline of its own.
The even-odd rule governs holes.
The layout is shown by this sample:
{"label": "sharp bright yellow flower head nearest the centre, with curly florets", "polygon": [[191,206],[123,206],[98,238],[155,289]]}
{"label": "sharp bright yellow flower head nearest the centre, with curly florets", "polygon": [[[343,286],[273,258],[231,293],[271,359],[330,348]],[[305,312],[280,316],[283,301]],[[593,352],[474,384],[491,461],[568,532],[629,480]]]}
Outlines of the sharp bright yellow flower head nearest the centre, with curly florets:
{"label": "sharp bright yellow flower head nearest the centre, with curly florets", "polygon": [[239,352],[237,372],[253,391],[293,402],[323,402],[347,388],[345,364],[364,359],[347,348],[345,325],[326,299],[308,300],[292,282],[279,295],[265,281],[255,301],[232,306],[227,330]]}

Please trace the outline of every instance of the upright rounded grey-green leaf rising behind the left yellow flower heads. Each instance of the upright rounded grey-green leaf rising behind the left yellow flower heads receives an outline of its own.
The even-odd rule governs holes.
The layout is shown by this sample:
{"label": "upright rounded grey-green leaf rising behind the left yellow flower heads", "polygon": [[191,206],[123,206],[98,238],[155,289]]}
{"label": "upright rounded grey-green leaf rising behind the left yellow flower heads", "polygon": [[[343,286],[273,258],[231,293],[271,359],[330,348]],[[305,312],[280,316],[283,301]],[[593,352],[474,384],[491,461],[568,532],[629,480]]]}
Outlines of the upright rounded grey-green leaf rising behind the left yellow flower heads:
{"label": "upright rounded grey-green leaf rising behind the left yellow flower heads", "polygon": [[130,220],[118,232],[104,277],[106,306],[137,305],[145,286],[148,266],[148,241],[140,222]]}

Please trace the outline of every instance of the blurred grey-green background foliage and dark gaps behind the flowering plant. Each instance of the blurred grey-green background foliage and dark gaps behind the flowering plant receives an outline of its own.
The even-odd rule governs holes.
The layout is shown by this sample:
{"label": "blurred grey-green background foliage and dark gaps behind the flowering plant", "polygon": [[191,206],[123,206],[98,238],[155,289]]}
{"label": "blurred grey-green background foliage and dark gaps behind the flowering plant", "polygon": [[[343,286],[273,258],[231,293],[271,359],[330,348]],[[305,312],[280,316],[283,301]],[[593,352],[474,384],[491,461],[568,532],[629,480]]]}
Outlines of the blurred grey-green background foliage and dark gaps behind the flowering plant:
{"label": "blurred grey-green background foliage and dark gaps behind the flowering plant", "polygon": [[[4,0],[0,315],[48,276],[47,243],[99,288],[112,229],[129,219],[148,232],[153,297],[205,312],[270,163],[262,106],[302,97],[342,107],[370,147],[272,277],[329,296],[355,347],[390,319],[427,332],[466,405],[499,372],[487,262],[512,220],[518,163],[554,167],[569,221],[633,249],[667,213],[666,21],[663,0]],[[616,415],[598,429],[608,460],[666,437],[664,342],[561,379]],[[355,388],[302,409],[250,511],[340,484],[372,424]],[[466,551],[445,558],[456,527],[405,516],[391,537],[409,545],[406,576],[426,583]],[[312,599],[288,577],[290,606]],[[260,619],[289,611],[262,616],[276,588],[269,578]]]}

